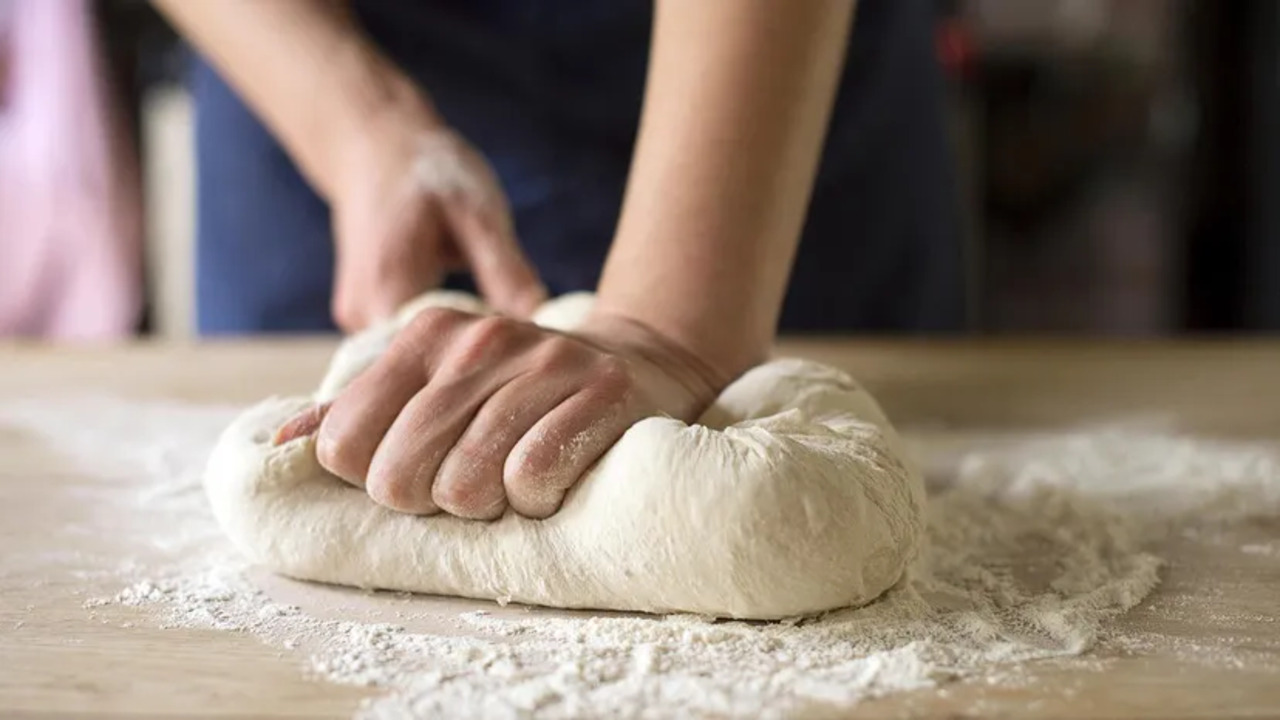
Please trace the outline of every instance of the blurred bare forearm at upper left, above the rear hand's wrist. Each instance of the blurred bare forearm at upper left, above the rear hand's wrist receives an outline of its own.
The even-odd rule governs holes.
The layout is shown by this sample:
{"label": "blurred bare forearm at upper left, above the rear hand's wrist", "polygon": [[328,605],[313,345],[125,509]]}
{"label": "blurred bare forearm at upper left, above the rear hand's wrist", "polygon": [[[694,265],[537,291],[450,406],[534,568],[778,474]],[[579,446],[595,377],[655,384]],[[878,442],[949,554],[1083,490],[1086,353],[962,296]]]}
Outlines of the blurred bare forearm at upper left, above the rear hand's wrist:
{"label": "blurred bare forearm at upper left, above the rear hand's wrist", "polygon": [[152,0],[330,195],[334,154],[380,113],[433,115],[344,0]]}

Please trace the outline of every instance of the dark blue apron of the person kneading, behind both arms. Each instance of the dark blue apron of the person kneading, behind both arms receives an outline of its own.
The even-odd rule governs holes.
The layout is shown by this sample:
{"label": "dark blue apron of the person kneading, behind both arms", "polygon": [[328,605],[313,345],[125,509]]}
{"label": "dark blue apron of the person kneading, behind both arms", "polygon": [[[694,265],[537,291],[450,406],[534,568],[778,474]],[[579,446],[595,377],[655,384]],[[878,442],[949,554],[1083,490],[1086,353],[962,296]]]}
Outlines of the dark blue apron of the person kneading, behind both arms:
{"label": "dark blue apron of the person kneading, behind both arms", "polygon": [[[493,163],[549,290],[594,290],[631,160],[652,3],[355,0],[355,9]],[[961,327],[933,20],[928,0],[859,3],[783,331]],[[324,201],[204,61],[192,91],[201,333],[332,331]]]}

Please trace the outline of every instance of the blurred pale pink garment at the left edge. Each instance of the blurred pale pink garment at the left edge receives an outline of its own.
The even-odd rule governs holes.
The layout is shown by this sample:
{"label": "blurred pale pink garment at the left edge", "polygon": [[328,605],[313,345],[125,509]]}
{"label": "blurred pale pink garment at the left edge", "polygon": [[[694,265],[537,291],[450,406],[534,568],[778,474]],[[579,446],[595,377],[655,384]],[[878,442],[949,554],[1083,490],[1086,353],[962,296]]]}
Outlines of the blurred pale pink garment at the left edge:
{"label": "blurred pale pink garment at the left edge", "polygon": [[141,200],[111,110],[87,0],[0,0],[0,336],[134,331]]}

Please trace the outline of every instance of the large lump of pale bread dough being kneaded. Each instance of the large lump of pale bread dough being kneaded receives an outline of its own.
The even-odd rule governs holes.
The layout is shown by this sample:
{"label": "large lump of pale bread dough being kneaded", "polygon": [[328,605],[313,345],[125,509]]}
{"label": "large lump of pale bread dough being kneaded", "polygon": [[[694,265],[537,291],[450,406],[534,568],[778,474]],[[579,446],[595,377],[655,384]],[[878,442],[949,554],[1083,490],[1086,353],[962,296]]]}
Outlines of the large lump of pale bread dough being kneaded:
{"label": "large lump of pale bread dough being kneaded", "polygon": [[[892,427],[852,379],[805,360],[748,372],[698,424],[636,423],[547,520],[397,514],[325,471],[312,438],[271,445],[438,304],[483,310],[431,293],[346,341],[316,396],[268,400],[223,433],[205,484],[252,561],[365,588],[778,619],[869,602],[916,555],[924,488]],[[589,304],[561,299],[536,320],[568,328]]]}

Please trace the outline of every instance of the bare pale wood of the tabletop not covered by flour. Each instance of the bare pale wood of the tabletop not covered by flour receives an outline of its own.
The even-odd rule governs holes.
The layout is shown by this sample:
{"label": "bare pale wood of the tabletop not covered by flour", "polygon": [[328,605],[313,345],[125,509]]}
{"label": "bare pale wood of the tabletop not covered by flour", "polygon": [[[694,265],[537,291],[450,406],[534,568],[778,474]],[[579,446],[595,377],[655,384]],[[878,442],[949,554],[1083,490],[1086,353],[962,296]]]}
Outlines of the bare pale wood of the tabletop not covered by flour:
{"label": "bare pale wood of the tabletop not covered by flour", "polygon": [[[308,391],[332,350],[326,341],[8,347],[0,405],[69,392],[250,402]],[[906,428],[980,434],[1143,416],[1210,436],[1280,438],[1280,343],[800,341],[783,351],[852,372]],[[74,473],[49,457],[0,427],[0,715],[346,717],[367,694],[310,682],[297,657],[244,634],[91,619],[82,598],[113,588],[18,561],[29,548],[50,550],[44,512],[83,502]],[[1280,521],[1253,532],[1275,538]],[[1280,562],[1176,541],[1158,552],[1170,560],[1162,584],[1117,625],[1157,633],[1165,646],[1083,666],[1046,662],[1019,687],[897,694],[858,715],[1280,716]],[[1179,612],[1188,600],[1217,611]],[[1196,648],[1242,650],[1251,660],[1204,662]]]}

